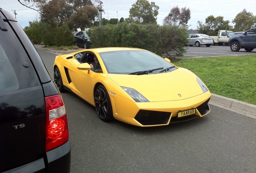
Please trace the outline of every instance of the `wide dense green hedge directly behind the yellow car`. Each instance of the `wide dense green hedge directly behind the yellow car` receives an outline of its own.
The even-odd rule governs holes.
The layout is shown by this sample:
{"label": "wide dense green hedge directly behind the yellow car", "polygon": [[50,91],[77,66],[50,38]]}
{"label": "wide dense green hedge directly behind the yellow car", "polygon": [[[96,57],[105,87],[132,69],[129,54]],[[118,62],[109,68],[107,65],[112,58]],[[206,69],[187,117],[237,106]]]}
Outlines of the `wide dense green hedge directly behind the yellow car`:
{"label": "wide dense green hedge directly behind the yellow car", "polygon": [[157,24],[104,25],[88,32],[92,46],[142,48],[167,58],[182,56],[188,34],[186,27],[159,26]]}

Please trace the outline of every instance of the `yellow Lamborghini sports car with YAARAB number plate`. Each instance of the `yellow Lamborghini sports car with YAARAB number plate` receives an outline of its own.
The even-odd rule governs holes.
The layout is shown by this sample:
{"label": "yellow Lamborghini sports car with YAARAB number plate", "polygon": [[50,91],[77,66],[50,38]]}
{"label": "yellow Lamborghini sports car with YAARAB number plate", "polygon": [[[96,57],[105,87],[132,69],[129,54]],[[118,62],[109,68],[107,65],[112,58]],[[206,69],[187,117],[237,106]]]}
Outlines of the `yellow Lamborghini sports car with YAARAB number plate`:
{"label": "yellow Lamborghini sports car with YAARAB number plate", "polygon": [[192,72],[138,48],[93,48],[56,56],[54,81],[95,106],[102,121],[160,126],[203,117],[211,93]]}

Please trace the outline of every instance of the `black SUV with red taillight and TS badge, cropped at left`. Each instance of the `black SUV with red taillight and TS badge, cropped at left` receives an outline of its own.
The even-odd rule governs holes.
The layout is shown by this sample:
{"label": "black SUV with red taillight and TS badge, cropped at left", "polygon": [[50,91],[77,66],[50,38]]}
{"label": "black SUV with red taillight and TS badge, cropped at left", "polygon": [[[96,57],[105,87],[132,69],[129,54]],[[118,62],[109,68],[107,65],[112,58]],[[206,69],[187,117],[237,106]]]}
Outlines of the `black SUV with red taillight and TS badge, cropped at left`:
{"label": "black SUV with red taillight and TS badge, cropped at left", "polygon": [[0,8],[0,172],[69,173],[62,97],[35,47]]}

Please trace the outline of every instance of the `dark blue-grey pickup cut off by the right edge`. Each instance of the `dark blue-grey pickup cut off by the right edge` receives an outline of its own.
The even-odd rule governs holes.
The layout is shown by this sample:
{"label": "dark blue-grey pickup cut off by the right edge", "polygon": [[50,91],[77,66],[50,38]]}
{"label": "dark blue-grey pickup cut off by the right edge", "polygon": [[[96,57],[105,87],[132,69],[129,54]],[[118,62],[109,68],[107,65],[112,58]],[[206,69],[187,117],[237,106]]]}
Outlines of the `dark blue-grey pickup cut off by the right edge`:
{"label": "dark blue-grey pickup cut off by the right edge", "polygon": [[243,34],[231,36],[229,46],[233,52],[237,52],[241,48],[244,48],[247,52],[251,52],[256,48],[256,28],[251,28]]}

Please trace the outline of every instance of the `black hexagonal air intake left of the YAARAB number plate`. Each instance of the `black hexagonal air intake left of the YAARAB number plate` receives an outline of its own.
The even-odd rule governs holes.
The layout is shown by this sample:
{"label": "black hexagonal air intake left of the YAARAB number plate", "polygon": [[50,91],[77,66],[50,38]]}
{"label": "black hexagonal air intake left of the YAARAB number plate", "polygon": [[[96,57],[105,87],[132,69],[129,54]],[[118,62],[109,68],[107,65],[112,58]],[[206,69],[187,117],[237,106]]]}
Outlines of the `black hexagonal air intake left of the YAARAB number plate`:
{"label": "black hexagonal air intake left of the YAARAB number plate", "polygon": [[135,119],[142,125],[161,125],[169,122],[171,113],[159,111],[138,111]]}

